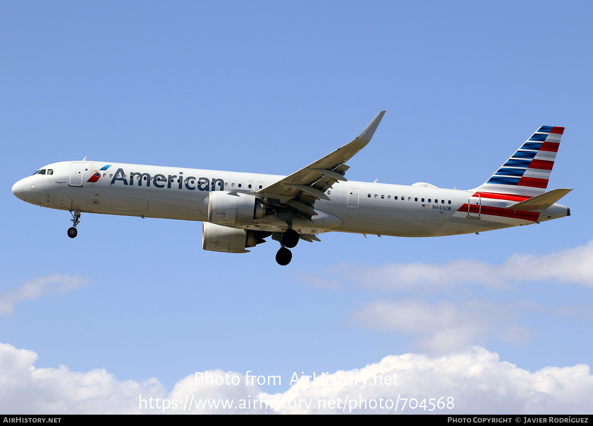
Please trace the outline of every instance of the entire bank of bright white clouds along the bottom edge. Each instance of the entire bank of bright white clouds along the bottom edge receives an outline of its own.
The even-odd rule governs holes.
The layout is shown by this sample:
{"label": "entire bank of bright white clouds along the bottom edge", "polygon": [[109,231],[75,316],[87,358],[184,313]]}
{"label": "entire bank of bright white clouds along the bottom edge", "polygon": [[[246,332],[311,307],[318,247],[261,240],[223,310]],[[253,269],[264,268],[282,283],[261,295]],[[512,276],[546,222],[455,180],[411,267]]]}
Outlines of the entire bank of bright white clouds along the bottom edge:
{"label": "entire bank of bright white clouds along the bottom edge", "polygon": [[[421,324],[418,327],[423,328]],[[285,392],[275,394],[246,384],[244,375],[234,371],[202,372],[202,380],[197,384],[195,374],[191,374],[167,393],[157,379],[119,382],[104,369],[78,373],[64,365],[34,368],[36,360],[33,351],[0,344],[0,411],[58,415],[161,414],[163,411],[167,414],[392,413],[399,398],[398,413],[423,414],[422,407],[411,409],[409,403],[423,405],[425,400],[428,413],[431,402],[436,404],[444,397],[441,402],[445,408],[435,409],[433,413],[579,414],[591,411],[593,398],[593,376],[588,365],[546,367],[531,373],[500,361],[497,354],[479,346],[443,357],[391,355],[360,369],[324,374],[315,382],[301,377]],[[206,383],[206,377],[211,381]],[[286,384],[290,378],[282,377],[282,380]],[[226,384],[218,386],[217,381]],[[408,401],[401,411],[404,398]],[[192,409],[184,411],[183,404],[190,400]],[[222,400],[228,403],[232,400],[232,408],[222,408]],[[269,408],[264,403],[260,408],[259,400],[269,402]],[[164,401],[169,406],[165,410]],[[205,408],[196,409],[195,401],[202,401]],[[151,402],[153,409],[148,408]],[[446,408],[448,402],[454,407]],[[216,403],[218,407],[214,406]],[[246,408],[239,408],[241,403]],[[178,408],[173,408],[174,405]]]}

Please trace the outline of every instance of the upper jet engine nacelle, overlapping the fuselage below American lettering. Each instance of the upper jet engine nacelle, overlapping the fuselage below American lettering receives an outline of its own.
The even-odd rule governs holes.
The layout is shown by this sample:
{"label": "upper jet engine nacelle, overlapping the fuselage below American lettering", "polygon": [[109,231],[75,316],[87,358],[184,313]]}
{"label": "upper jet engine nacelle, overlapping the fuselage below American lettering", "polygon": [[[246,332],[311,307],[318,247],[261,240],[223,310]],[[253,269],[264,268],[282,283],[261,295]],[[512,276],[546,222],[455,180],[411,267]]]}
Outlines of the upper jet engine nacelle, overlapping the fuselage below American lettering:
{"label": "upper jet engine nacelle, overlapping the fuselage below American lettering", "polygon": [[235,226],[262,219],[266,207],[259,198],[229,191],[212,191],[208,196],[208,221],[224,226]]}

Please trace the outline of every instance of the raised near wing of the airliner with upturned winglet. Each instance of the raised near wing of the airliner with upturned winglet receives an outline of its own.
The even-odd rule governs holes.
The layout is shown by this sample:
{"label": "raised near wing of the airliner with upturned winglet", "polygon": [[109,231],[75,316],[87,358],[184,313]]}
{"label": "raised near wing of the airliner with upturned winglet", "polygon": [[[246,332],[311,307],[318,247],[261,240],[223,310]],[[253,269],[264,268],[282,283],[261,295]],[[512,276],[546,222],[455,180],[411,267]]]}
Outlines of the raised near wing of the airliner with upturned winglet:
{"label": "raised near wing of the airliner with upturned winglet", "polygon": [[310,220],[311,216],[317,215],[313,208],[315,201],[329,200],[325,191],[338,180],[346,181],[344,174],[349,167],[344,163],[371,141],[384,114],[385,111],[378,113],[364,131],[349,144],[260,189],[257,194],[264,196],[270,203],[287,206],[298,216]]}

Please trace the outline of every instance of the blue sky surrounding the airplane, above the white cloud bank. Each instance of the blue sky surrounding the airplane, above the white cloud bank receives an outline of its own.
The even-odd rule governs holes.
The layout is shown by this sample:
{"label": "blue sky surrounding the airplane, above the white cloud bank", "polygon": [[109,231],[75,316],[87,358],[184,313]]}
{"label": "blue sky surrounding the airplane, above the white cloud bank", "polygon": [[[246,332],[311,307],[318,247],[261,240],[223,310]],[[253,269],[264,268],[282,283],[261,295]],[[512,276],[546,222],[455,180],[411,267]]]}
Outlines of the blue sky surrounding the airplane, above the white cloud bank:
{"label": "blue sky surrounding the airplane, above the white cloud bank", "polygon": [[[530,374],[592,365],[591,11],[587,2],[2,2],[0,342],[35,352],[25,358],[37,369],[103,368],[120,384],[155,377],[165,396],[196,371],[278,374],[281,386],[257,390],[272,395],[289,392],[294,372],[409,353],[456,360],[475,350],[476,365],[498,354],[494,364]],[[538,126],[563,126],[549,189],[574,188],[562,201],[572,215],[479,236],[330,233],[301,242],[280,268],[275,241],[247,255],[203,251],[199,222],[83,214],[71,240],[67,212],[10,191],[44,164],[85,155],[289,174],[383,109],[349,180],[469,189]],[[460,260],[476,278],[450,279],[446,266]],[[435,268],[441,284],[403,285],[393,271],[404,267]],[[484,284],[483,271],[503,284]],[[12,346],[6,359],[25,354]],[[18,370],[0,365],[5,376]],[[41,389],[23,371],[15,395]],[[409,392],[429,392],[420,382],[410,373]],[[470,396],[450,390],[464,412]],[[567,401],[581,409],[550,395],[559,411]],[[519,411],[537,411],[525,398]],[[138,408],[137,394],[130,401],[118,412]],[[18,407],[59,411],[36,403]]]}

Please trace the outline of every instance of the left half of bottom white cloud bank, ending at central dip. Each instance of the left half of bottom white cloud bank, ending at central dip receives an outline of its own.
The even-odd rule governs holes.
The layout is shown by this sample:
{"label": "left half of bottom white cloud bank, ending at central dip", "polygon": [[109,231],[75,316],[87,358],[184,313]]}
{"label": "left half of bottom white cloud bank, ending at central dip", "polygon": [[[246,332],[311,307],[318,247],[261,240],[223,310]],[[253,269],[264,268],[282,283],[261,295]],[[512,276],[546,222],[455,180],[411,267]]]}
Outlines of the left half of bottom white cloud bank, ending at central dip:
{"label": "left half of bottom white cloud bank, ending at central dip", "polygon": [[[154,378],[142,383],[133,380],[119,382],[113,374],[98,368],[87,373],[70,371],[65,365],[60,365],[58,368],[34,368],[37,358],[37,354],[33,351],[0,344],[0,412],[7,414],[161,414],[162,412],[208,414],[229,411],[228,408],[224,409],[221,406],[218,408],[209,406],[209,403],[216,403],[218,399],[233,399],[238,405],[240,399],[250,400],[260,393],[257,386],[245,384],[243,375],[225,373],[222,370],[204,372],[203,374],[212,378],[212,382],[206,383],[206,380],[203,380],[197,385],[194,374],[187,376],[179,380],[167,395],[161,383]],[[225,379],[225,376],[231,377],[229,380],[237,376],[241,384],[216,386],[216,380]],[[193,402],[192,408],[188,403],[186,411],[183,411],[183,405],[189,395],[193,395],[193,401],[202,400],[205,407],[200,406],[196,409],[196,402]],[[210,399],[210,402],[207,399]],[[257,414],[262,410],[257,408],[247,412]]]}

